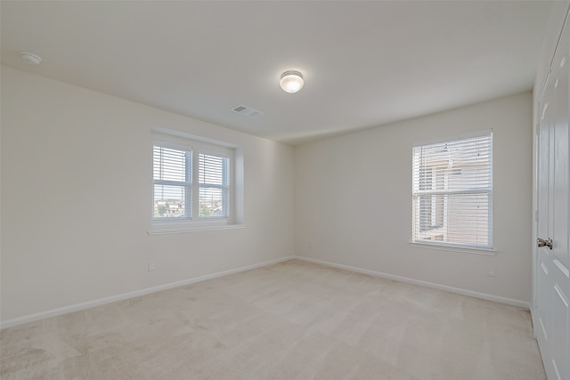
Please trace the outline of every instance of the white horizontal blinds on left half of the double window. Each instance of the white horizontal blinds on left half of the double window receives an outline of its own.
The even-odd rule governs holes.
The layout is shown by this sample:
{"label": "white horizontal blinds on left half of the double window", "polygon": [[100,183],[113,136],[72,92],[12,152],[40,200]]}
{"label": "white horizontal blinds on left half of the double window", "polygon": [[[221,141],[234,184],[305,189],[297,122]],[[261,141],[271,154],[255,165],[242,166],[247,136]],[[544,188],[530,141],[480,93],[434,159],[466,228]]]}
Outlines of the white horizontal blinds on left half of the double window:
{"label": "white horizontal blinds on left half of the double window", "polygon": [[153,217],[191,218],[191,151],[155,143],[152,149]]}

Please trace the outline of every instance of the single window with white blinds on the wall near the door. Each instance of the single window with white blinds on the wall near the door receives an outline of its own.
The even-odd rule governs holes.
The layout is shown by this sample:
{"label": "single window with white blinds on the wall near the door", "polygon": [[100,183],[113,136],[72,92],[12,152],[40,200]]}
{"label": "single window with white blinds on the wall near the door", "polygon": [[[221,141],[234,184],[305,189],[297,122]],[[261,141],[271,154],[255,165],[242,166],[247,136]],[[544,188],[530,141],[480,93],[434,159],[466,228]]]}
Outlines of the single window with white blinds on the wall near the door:
{"label": "single window with white blinds on the wall near the door", "polygon": [[492,133],[413,147],[412,242],[493,247]]}

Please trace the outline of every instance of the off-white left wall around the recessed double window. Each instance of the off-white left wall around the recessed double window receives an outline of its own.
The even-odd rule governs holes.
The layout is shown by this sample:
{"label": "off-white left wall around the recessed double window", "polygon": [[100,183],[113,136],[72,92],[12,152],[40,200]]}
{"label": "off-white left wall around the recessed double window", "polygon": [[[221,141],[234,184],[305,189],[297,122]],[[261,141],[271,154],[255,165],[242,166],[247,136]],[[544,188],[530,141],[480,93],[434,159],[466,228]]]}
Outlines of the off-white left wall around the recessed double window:
{"label": "off-white left wall around the recessed double window", "polygon": [[[293,148],[19,70],[1,74],[2,321],[293,255]],[[157,127],[243,149],[245,229],[147,234]]]}

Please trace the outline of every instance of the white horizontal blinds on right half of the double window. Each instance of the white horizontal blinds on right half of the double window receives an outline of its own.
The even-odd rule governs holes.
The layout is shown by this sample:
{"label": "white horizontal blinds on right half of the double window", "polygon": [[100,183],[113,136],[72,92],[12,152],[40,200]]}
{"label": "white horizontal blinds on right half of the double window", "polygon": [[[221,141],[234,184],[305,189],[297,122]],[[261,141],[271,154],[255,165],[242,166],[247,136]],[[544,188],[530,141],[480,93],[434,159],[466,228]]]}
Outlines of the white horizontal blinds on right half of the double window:
{"label": "white horizontal blinds on right half of the double window", "polygon": [[199,217],[227,218],[230,210],[230,158],[199,154]]}

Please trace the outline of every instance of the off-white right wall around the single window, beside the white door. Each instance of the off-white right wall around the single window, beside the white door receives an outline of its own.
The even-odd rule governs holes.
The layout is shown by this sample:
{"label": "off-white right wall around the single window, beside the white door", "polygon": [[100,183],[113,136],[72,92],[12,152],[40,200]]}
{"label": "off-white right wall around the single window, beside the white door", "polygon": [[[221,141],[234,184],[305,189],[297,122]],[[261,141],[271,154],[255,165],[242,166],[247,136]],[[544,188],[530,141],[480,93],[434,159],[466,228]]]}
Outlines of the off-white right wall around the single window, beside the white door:
{"label": "off-white right wall around the single window, beside the white door", "polygon": [[[485,129],[496,255],[412,247],[413,142]],[[297,147],[297,255],[528,304],[532,130],[532,94],[521,93]]]}

